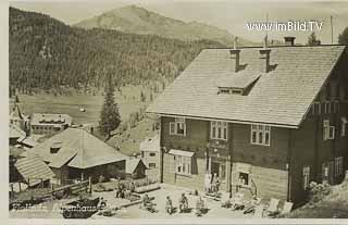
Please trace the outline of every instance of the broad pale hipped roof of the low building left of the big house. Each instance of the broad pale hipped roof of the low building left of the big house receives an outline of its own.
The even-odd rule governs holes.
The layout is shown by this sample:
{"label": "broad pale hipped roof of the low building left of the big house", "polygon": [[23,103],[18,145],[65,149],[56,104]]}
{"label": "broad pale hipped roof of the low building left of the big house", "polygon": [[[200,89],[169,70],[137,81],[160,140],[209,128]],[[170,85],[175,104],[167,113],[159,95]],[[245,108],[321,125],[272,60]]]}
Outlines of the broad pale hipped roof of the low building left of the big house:
{"label": "broad pale hipped roof of the low building left of the big house", "polygon": [[[51,147],[57,147],[51,153]],[[77,168],[87,168],[123,161],[124,154],[80,128],[67,128],[30,149],[30,154],[39,155],[51,167],[61,167],[65,163]],[[27,154],[29,154],[27,152]]]}

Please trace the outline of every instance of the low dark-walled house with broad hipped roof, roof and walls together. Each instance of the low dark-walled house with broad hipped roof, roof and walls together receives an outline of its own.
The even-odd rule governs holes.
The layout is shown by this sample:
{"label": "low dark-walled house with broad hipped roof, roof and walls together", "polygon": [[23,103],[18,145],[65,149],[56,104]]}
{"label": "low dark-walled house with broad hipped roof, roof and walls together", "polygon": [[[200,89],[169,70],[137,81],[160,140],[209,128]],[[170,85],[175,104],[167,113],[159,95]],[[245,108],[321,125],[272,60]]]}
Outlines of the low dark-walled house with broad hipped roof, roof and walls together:
{"label": "low dark-walled house with broad hipped roof, roof and walls together", "polygon": [[61,184],[125,175],[126,157],[82,128],[67,128],[26,153],[39,155]]}

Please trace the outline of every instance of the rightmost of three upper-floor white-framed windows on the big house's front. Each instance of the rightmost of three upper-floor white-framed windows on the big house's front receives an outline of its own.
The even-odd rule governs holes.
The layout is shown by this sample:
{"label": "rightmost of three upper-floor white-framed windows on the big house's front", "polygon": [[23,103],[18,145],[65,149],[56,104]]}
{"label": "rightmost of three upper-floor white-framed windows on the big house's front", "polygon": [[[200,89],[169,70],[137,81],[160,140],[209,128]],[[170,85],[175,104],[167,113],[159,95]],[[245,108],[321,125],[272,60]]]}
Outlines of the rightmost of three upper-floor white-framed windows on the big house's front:
{"label": "rightmost of three upper-floor white-framed windows on the big house's front", "polygon": [[271,126],[251,124],[251,143],[270,146],[271,145]]}

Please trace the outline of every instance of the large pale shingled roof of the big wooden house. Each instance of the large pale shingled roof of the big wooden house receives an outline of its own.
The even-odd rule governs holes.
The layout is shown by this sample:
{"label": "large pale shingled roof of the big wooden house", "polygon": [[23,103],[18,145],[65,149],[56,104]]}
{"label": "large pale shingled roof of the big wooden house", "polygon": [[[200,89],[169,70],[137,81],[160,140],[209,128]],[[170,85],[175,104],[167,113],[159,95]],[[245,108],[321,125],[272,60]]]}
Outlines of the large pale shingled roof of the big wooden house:
{"label": "large pale shingled roof of the big wooden house", "polygon": [[[297,128],[345,47],[272,47],[269,73],[262,73],[260,49],[240,49],[238,72],[229,49],[203,50],[147,112]],[[244,75],[248,80],[237,77]],[[238,87],[257,82],[247,96],[217,95],[228,79]]]}

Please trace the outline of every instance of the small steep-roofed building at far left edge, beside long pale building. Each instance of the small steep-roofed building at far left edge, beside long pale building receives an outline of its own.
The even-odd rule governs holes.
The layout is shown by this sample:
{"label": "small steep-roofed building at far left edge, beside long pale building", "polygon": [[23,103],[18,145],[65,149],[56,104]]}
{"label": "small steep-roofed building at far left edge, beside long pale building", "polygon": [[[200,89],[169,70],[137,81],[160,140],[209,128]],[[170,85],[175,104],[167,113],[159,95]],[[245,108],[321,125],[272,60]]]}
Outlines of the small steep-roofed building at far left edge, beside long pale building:
{"label": "small steep-roofed building at far left edge, beside long pale building", "polygon": [[20,129],[24,130],[26,135],[29,134],[29,129],[30,129],[29,116],[22,113],[20,104],[17,103],[14,103],[11,107],[10,125],[14,125],[18,127]]}

